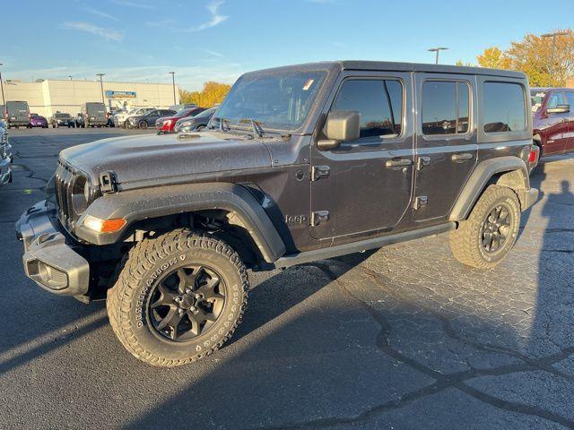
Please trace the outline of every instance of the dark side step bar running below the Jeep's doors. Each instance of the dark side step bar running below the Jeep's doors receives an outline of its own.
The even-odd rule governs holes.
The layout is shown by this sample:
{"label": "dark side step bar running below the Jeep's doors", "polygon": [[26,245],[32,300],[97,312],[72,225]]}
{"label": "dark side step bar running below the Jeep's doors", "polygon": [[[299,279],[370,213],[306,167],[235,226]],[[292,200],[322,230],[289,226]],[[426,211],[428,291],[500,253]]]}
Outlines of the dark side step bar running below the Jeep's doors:
{"label": "dark side step bar running below the Jeep's doors", "polygon": [[317,262],[318,260],[326,260],[327,258],[359,253],[361,251],[382,248],[383,246],[393,245],[399,242],[407,242],[409,240],[420,239],[421,237],[439,235],[440,233],[445,233],[447,231],[454,230],[455,228],[457,228],[457,223],[449,222],[448,224],[440,224],[439,226],[419,228],[418,230],[410,230],[388,236],[374,237],[372,239],[361,240],[361,242],[352,242],[350,244],[329,246],[327,248],[315,249],[313,251],[306,251],[304,253],[286,255],[274,262],[274,267],[284,268],[294,266],[296,264]]}

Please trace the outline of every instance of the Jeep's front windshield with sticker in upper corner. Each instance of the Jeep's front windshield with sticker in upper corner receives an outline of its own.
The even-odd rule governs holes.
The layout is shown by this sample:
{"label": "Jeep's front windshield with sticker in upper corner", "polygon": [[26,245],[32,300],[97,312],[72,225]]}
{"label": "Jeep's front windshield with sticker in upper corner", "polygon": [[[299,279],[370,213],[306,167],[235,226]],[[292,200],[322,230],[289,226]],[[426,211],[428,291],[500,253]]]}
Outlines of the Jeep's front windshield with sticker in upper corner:
{"label": "Jeep's front windshield with sticker in upper corner", "polygon": [[[287,70],[249,73],[239,78],[217,111],[215,127],[250,130],[250,120],[265,129],[300,128],[325,82],[326,71]],[[246,123],[246,120],[247,123]]]}

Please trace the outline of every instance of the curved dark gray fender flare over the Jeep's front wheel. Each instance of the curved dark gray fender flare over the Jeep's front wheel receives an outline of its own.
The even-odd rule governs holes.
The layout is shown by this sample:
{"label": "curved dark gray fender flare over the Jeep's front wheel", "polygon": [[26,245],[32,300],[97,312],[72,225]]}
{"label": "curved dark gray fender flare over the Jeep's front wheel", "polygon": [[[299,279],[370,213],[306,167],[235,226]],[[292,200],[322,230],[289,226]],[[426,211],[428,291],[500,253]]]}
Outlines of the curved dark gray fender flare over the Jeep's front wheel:
{"label": "curved dark gray fender flare over the Jeep's front wheel", "polygon": [[[136,221],[204,210],[236,214],[266,262],[275,262],[285,254],[283,239],[253,194],[241,185],[228,183],[168,185],[105,194],[92,202],[78,219],[74,234],[94,245],[110,245]],[[126,219],[126,227],[115,233],[96,233],[83,227],[83,220],[88,215],[100,219]]]}

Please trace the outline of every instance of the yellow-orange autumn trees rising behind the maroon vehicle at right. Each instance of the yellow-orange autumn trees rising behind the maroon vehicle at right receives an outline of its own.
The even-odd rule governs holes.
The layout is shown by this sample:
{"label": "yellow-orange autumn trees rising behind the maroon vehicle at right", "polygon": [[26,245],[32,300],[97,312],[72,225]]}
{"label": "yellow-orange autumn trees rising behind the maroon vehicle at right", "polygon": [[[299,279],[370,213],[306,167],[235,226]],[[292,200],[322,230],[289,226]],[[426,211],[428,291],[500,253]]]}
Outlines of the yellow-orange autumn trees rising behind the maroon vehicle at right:
{"label": "yellow-orange autumn trees rising behind the maroon vehicle at right", "polygon": [[483,67],[526,73],[533,87],[561,87],[574,78],[574,31],[565,32],[566,35],[556,37],[553,56],[552,38],[527,34],[505,51],[488,47],[476,59]]}

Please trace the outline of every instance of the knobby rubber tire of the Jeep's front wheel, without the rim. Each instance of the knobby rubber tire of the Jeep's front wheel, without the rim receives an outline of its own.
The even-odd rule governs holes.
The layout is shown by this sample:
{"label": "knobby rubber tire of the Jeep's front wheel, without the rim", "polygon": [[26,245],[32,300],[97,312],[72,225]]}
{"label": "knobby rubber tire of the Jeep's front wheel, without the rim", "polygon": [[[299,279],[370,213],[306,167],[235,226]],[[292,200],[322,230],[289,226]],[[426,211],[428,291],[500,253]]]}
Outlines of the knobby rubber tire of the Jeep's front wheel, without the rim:
{"label": "knobby rubber tire of the Jeep's front wheel, without the rim", "polygon": [[[163,340],[147,314],[149,297],[163,276],[191,262],[210,265],[221,275],[226,288],[222,314],[193,340]],[[239,254],[222,240],[181,228],[144,239],[132,248],[118,266],[106,305],[109,323],[133,356],[152,366],[173,367],[221,348],[239,325],[247,299],[248,275]]]}

